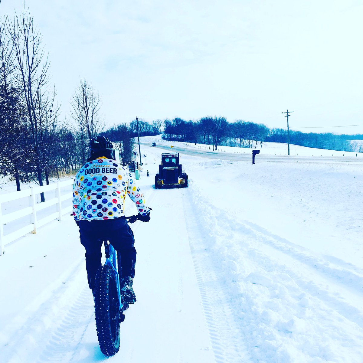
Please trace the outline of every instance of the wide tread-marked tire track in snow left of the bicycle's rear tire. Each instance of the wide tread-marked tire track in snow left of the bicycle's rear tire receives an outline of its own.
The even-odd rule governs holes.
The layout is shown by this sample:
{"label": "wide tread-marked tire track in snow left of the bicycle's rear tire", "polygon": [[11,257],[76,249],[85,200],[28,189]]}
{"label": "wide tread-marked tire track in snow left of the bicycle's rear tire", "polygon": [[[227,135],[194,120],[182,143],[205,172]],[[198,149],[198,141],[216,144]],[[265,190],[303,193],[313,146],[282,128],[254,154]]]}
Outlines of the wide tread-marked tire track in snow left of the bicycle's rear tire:
{"label": "wide tread-marked tire track in snow left of the bicycle's rear tire", "polygon": [[6,362],[19,362],[21,358],[26,363],[65,363],[72,359],[88,325],[94,321],[93,299],[84,284],[84,270],[83,264],[78,264],[69,271],[64,279],[67,285],[52,291],[32,318],[13,334],[17,339],[8,344],[11,354]]}

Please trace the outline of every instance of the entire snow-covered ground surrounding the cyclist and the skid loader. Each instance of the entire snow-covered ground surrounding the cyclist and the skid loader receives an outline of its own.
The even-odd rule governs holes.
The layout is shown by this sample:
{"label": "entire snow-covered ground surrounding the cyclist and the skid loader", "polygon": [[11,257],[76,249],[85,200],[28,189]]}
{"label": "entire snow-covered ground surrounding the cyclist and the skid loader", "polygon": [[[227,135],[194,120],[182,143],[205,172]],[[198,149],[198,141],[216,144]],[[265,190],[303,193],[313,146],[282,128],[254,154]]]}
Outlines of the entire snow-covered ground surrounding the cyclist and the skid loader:
{"label": "entire snow-covered ground surrounding the cyclist and the skid loader", "polygon": [[[139,180],[152,219],[132,225],[138,301],[107,361],[363,362],[362,154],[297,147],[314,159],[266,161],[287,145],[264,143],[252,165],[250,155],[228,160],[249,149],[212,158],[147,146],[154,139],[142,138]],[[154,189],[167,147],[180,152],[187,189]],[[71,217],[5,247],[0,362],[105,359],[83,254]]]}

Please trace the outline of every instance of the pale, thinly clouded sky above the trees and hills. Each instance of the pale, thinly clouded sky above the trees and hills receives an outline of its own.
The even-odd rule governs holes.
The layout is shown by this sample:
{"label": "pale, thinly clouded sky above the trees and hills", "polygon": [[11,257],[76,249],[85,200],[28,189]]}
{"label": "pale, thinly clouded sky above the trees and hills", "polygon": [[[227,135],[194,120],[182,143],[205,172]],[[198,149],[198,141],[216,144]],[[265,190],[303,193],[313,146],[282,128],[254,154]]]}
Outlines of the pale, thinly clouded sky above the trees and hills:
{"label": "pale, thinly clouded sky above the trees and hills", "polygon": [[[107,126],[221,115],[363,134],[361,0],[25,0],[69,118],[85,77]],[[1,0],[0,14],[23,11]],[[310,128],[310,127],[319,128]],[[307,128],[298,128],[307,127]]]}

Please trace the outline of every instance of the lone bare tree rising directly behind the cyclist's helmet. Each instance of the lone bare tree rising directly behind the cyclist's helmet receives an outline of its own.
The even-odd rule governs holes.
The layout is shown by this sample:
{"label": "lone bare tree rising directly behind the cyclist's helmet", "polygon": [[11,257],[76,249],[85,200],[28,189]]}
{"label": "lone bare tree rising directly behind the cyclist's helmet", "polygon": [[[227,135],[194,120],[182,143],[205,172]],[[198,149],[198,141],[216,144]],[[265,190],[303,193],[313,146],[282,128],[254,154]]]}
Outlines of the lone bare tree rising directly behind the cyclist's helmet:
{"label": "lone bare tree rising directly behind the cyclist's helmet", "polygon": [[88,145],[91,138],[103,131],[105,120],[101,119],[99,111],[101,99],[99,94],[85,78],[80,79],[79,86],[73,95],[72,118],[77,123],[78,137],[81,147],[82,163],[86,162]]}

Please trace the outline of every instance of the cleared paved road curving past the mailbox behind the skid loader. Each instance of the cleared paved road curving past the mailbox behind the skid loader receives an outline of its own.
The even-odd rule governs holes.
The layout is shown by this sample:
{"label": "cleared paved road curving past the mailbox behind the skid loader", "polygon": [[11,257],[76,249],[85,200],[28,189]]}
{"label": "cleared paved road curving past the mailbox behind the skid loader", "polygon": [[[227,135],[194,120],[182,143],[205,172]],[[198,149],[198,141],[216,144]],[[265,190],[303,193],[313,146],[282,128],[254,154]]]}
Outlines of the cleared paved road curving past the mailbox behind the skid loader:
{"label": "cleared paved road curving past the mailbox behind the skid loader", "polygon": [[[141,145],[151,146],[150,142],[141,142]],[[171,152],[169,145],[160,145],[154,147],[157,149],[167,150]],[[164,151],[163,151],[164,152]],[[172,152],[180,152],[182,154],[194,155],[194,156],[203,156],[205,158],[210,159],[221,159],[221,160],[231,160],[231,161],[240,161],[240,162],[251,162],[252,163],[252,155],[251,154],[237,154],[230,152],[215,152],[208,151],[197,148],[188,148],[188,147],[174,147]],[[258,154],[256,155],[255,162],[328,162],[328,163],[363,163],[362,157],[351,157],[351,156],[294,156],[294,155],[268,155],[268,154]]]}

